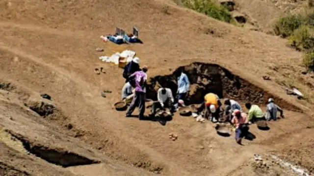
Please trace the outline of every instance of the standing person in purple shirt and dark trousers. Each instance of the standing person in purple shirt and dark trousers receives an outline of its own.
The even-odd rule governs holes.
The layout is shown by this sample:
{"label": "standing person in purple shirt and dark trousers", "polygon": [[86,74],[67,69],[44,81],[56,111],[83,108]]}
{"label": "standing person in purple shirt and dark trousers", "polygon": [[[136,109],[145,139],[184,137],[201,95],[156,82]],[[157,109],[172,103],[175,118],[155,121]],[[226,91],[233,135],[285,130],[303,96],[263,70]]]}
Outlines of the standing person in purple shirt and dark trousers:
{"label": "standing person in purple shirt and dark trousers", "polygon": [[131,114],[135,110],[135,107],[138,106],[139,108],[138,118],[140,120],[144,118],[147,71],[148,71],[147,66],[143,66],[141,71],[136,71],[129,77],[129,80],[133,79],[135,81],[135,95],[127,111],[126,117],[131,117]]}

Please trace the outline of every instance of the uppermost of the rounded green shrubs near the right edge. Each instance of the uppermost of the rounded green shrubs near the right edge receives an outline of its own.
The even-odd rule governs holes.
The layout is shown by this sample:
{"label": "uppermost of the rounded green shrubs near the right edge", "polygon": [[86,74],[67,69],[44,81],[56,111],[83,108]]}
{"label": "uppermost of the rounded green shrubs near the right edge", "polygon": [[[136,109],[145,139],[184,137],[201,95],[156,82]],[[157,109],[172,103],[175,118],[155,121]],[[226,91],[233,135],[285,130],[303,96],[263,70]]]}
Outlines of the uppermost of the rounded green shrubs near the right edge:
{"label": "uppermost of the rounded green shrubs near the right edge", "polygon": [[274,32],[276,35],[281,35],[282,37],[286,38],[289,37],[293,31],[299,28],[302,24],[305,24],[304,16],[300,14],[290,14],[280,18],[277,22],[275,22]]}

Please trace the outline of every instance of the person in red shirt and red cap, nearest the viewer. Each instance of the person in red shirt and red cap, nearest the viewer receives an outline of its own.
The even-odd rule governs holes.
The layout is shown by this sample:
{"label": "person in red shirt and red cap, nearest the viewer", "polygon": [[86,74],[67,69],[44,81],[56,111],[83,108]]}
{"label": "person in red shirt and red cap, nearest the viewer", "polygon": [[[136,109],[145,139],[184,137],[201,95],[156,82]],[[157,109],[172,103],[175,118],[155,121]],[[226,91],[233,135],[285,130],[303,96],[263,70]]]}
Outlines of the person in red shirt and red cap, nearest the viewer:
{"label": "person in red shirt and red cap, nearest the viewer", "polygon": [[247,115],[240,110],[235,110],[233,116],[231,123],[235,125],[235,141],[241,144],[242,137],[245,137],[249,131]]}

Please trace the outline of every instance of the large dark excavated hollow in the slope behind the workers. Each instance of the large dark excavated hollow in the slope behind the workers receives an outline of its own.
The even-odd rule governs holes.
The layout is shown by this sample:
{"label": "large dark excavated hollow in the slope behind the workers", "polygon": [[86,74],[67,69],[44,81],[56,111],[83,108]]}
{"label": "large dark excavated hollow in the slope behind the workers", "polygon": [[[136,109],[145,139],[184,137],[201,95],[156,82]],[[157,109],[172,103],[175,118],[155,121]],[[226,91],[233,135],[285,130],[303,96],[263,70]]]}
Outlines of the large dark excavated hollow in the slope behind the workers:
{"label": "large dark excavated hollow in the slope behind the workers", "polygon": [[179,69],[183,70],[190,81],[185,101],[187,105],[202,103],[204,96],[212,92],[220,98],[231,98],[238,102],[251,102],[260,106],[265,106],[268,98],[273,98],[283,109],[301,112],[298,107],[234,75],[222,66],[200,62],[180,66],[170,75],[151,78],[147,87],[147,98],[157,100],[157,89],[160,86],[170,88],[176,96],[178,85],[174,75]]}

